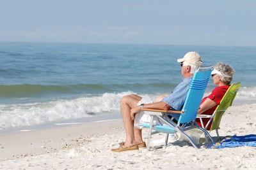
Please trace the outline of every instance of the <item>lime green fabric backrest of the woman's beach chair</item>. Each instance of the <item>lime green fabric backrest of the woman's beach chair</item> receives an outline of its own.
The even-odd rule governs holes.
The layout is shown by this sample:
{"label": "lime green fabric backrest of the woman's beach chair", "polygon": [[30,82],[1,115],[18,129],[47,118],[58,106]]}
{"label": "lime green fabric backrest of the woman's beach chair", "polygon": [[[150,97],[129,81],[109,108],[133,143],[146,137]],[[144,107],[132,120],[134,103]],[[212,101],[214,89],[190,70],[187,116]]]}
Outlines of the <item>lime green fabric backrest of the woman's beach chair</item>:
{"label": "lime green fabric backrest of the woman's beach chair", "polygon": [[211,125],[210,131],[212,131],[214,129],[219,129],[221,117],[223,116],[223,114],[225,113],[227,108],[232,105],[232,103],[234,101],[234,98],[236,97],[237,90],[240,87],[241,87],[240,82],[239,83],[233,83],[232,85],[230,85],[227,92],[225,93],[225,95],[221,99],[220,104],[217,106],[217,108],[215,110],[215,114],[214,114],[214,117],[212,119],[212,125]]}

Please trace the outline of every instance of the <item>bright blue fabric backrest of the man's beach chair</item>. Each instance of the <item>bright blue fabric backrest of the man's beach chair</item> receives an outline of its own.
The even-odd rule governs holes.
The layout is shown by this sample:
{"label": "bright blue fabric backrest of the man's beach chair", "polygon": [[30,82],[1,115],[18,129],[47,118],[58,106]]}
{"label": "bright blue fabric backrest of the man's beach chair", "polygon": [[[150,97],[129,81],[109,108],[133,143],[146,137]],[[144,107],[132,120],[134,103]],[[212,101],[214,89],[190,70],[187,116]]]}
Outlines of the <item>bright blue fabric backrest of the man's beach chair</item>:
{"label": "bright blue fabric backrest of the man's beach chair", "polygon": [[188,96],[186,97],[182,108],[184,113],[180,115],[178,124],[184,124],[195,120],[211,71],[212,67],[201,67],[195,72],[189,87]]}

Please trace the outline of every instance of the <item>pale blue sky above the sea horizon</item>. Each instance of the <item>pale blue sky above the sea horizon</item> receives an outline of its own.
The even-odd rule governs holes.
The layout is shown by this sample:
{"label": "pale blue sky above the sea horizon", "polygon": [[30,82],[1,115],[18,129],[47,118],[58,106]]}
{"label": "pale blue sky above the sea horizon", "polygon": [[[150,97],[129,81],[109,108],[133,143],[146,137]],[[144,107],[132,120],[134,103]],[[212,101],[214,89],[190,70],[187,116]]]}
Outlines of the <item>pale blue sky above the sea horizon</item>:
{"label": "pale blue sky above the sea horizon", "polygon": [[256,1],[0,0],[0,41],[256,46]]}

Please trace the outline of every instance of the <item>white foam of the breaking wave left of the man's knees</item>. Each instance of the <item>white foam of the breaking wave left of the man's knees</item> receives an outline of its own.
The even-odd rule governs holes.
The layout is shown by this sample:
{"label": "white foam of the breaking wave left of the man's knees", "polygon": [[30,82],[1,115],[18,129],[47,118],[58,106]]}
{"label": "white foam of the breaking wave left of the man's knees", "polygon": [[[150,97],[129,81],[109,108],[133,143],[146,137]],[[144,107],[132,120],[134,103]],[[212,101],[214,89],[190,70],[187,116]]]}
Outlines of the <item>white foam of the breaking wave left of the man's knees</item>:
{"label": "white foam of the breaking wave left of the man's knees", "polygon": [[[115,113],[120,110],[119,103],[122,96],[128,94],[132,92],[105,93],[102,96],[79,97],[48,103],[0,105],[0,129],[92,117],[99,113]],[[153,95],[150,97],[154,99]]]}

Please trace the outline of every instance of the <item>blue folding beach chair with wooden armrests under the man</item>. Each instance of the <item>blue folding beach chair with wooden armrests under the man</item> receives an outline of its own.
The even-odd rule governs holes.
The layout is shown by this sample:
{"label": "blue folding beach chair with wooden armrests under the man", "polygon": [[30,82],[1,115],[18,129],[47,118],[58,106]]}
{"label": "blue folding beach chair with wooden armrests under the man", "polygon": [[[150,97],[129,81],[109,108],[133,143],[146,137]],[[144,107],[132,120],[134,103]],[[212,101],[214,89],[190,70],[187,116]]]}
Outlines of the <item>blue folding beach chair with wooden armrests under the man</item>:
{"label": "blue folding beach chair with wooden armrests under the man", "polygon": [[[163,132],[167,134],[165,139],[165,146],[168,142],[168,134],[180,132],[181,134],[184,134],[186,138],[188,138],[189,142],[195,148],[198,148],[195,141],[193,141],[189,134],[186,133],[186,131],[195,128],[203,131],[205,133],[205,136],[211,139],[212,143],[214,143],[210,134],[204,128],[199,127],[195,122],[198,108],[200,106],[202,97],[204,96],[204,92],[207,87],[209,77],[211,75],[211,70],[212,67],[201,67],[195,72],[182,111],[143,109],[145,114],[150,115],[150,123],[141,124],[142,127],[149,128],[147,141],[148,150],[150,148],[151,135],[155,134],[156,132]],[[180,114],[177,124],[173,122],[173,119],[168,118],[167,115],[169,113]],[[156,118],[158,118],[159,121],[164,122],[164,125],[157,125],[156,121],[154,121],[156,120]],[[156,132],[152,132],[152,130]]]}

